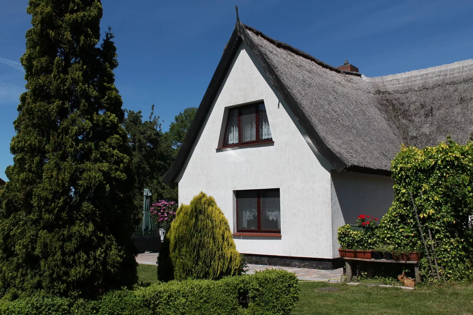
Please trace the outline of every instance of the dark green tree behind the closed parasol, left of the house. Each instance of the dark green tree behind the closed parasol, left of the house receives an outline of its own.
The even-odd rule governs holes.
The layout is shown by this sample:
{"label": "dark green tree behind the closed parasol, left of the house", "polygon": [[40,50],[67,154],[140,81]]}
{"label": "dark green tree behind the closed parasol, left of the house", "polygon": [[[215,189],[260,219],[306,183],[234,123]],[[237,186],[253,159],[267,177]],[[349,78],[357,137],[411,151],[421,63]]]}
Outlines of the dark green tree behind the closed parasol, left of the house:
{"label": "dark green tree behind the closed parasol, left of the house", "polygon": [[141,111],[125,112],[127,117],[123,121],[123,127],[128,133],[131,166],[137,177],[133,191],[136,223],[142,216],[144,188],[151,191],[152,203],[161,199],[177,201],[177,185],[166,185],[161,181],[174,161],[174,153],[161,131],[159,117],[153,116],[154,104],[149,119],[145,121]]}

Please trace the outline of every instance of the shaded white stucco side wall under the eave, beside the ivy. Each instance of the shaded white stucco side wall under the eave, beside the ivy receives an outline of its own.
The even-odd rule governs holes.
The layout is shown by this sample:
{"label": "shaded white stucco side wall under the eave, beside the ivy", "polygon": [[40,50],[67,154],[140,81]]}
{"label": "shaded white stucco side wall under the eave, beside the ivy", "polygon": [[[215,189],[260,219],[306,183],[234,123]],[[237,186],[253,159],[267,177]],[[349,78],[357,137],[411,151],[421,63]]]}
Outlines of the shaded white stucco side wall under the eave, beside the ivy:
{"label": "shaded white stucco side wall under the eave, beside the ivy", "polygon": [[332,171],[333,256],[338,257],[337,229],[356,224],[360,214],[381,219],[394,200],[389,176]]}

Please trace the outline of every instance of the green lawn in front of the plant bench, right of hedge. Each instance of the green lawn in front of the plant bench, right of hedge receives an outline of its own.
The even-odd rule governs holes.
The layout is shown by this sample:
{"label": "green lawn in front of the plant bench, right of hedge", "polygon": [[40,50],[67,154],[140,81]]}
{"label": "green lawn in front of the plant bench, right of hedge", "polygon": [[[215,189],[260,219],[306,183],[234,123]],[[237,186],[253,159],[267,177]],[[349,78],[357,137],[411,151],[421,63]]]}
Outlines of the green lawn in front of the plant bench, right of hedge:
{"label": "green lawn in front of the plant bench, right of hedge", "polygon": [[[367,287],[363,284],[299,282],[300,300],[294,315],[312,314],[473,314],[473,286],[447,284],[414,290]],[[336,287],[338,291],[320,288]]]}

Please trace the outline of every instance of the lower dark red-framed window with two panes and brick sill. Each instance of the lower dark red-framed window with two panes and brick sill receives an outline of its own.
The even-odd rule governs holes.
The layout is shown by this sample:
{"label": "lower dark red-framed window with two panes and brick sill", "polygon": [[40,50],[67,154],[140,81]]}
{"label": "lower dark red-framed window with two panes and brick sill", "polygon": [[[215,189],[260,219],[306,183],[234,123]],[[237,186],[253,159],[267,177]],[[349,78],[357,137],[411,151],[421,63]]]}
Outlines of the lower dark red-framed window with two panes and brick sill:
{"label": "lower dark red-framed window with two panes and brick sill", "polygon": [[236,191],[236,230],[280,232],[279,188]]}

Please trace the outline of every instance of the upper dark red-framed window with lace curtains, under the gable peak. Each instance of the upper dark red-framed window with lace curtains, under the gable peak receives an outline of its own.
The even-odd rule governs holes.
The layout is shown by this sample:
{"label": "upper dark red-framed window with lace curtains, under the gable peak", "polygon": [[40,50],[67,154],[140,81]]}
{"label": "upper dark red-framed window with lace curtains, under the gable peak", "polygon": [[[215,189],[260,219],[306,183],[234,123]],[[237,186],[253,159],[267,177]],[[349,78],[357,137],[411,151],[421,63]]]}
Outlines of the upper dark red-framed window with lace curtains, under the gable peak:
{"label": "upper dark red-framed window with lace curtains, under the gable peak", "polygon": [[272,137],[264,103],[230,108],[224,146],[268,141]]}

